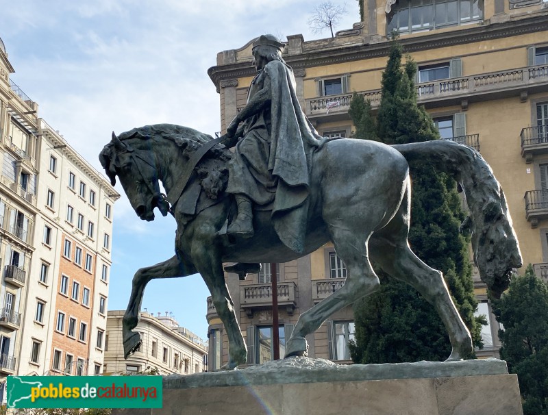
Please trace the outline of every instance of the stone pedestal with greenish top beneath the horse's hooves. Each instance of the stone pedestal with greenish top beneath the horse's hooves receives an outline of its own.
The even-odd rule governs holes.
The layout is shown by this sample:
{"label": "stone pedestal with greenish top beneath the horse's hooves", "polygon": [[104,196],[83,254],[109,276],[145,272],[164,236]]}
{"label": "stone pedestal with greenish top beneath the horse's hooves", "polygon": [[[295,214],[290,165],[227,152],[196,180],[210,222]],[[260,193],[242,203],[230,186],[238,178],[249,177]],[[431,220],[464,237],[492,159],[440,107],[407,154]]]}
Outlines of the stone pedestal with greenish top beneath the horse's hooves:
{"label": "stone pedestal with greenish top beneath the horse's hooves", "polygon": [[160,410],[113,415],[522,414],[516,375],[496,359],[340,366],[294,357],[164,378]]}

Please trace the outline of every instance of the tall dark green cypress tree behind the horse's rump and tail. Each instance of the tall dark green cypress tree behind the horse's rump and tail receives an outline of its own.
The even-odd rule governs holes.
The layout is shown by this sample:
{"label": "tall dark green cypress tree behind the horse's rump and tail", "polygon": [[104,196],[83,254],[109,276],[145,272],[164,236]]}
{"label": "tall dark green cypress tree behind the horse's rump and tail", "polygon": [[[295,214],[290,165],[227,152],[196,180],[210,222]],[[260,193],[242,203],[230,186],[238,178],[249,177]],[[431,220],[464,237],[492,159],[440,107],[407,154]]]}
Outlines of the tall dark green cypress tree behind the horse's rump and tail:
{"label": "tall dark green cypress tree behind the horse's rump and tail", "polygon": [[[416,64],[408,58],[402,67],[402,55],[401,45],[393,40],[382,75],[376,140],[386,144],[437,140],[440,137],[432,118],[416,103],[413,81]],[[356,111],[351,117],[358,132],[361,116]],[[443,272],[474,345],[481,347],[481,324],[486,320],[473,315],[477,301],[467,250],[469,241],[459,234],[465,215],[456,182],[421,162],[410,164],[410,172],[410,246],[423,262]],[[356,340],[350,344],[353,361],[397,363],[447,359],[451,344],[434,307],[411,286],[395,281],[376,267],[375,270],[381,279],[381,289],[354,306]]]}

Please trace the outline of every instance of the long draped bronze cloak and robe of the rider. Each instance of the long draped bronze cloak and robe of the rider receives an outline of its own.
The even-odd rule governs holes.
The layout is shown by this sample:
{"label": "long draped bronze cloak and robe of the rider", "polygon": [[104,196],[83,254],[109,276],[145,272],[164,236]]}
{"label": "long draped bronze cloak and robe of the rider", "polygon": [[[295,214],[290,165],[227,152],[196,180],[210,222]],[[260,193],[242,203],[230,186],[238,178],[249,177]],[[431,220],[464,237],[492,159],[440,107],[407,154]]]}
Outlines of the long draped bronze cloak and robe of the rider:
{"label": "long draped bronze cloak and robe of the rider", "polygon": [[271,101],[247,118],[229,162],[227,192],[246,194],[259,209],[272,210],[279,239],[301,253],[312,152],[322,140],[301,110],[289,66],[279,60],[266,64],[251,83],[248,101],[263,89]]}

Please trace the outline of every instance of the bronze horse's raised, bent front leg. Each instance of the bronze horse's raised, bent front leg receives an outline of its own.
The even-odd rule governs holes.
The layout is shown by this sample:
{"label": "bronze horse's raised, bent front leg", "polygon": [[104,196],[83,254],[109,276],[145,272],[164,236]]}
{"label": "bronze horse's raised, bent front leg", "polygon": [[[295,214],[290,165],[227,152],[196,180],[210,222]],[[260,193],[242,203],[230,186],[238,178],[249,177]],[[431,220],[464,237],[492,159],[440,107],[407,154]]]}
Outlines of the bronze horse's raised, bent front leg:
{"label": "bronze horse's raised, bent front leg", "polygon": [[133,331],[139,323],[139,311],[142,303],[142,295],[145,292],[145,287],[155,278],[176,278],[186,277],[197,273],[196,268],[181,260],[177,255],[174,255],[169,260],[160,262],[153,266],[140,268],[134,275],[132,281],[132,294],[129,296],[127,310],[122,320],[122,339],[124,345],[124,358],[134,353],[140,346],[142,340],[140,334]]}

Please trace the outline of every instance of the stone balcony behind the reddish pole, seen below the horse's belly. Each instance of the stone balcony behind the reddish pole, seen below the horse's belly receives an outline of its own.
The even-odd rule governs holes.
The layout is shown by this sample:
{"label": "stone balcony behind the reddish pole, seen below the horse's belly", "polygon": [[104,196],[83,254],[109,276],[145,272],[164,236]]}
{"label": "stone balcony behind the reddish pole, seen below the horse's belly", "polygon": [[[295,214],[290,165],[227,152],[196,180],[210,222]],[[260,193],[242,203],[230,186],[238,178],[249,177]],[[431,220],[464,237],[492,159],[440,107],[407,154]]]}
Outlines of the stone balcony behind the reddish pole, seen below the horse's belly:
{"label": "stone balcony behind the reddish pole, seen below the horse's belly", "polygon": [[[288,314],[293,314],[297,303],[295,301],[295,282],[281,282],[277,284],[278,306],[286,307]],[[247,312],[249,318],[253,316],[253,310],[268,309],[272,307],[271,284],[251,284],[240,286],[240,306]]]}

